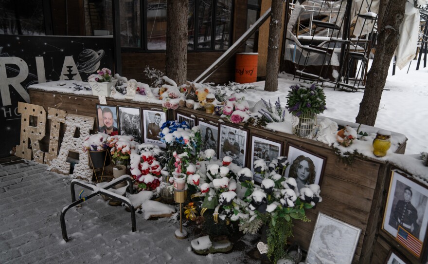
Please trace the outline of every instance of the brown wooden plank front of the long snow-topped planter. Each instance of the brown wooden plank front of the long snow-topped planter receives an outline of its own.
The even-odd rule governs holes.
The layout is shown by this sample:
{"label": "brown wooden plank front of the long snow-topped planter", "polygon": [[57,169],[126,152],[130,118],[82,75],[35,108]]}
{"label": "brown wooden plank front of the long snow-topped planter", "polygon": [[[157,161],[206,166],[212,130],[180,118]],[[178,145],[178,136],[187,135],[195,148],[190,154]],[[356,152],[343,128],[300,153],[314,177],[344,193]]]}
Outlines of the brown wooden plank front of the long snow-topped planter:
{"label": "brown wooden plank front of the long snow-topped planter", "polygon": [[[29,94],[32,104],[43,105],[46,110],[48,107],[54,107],[68,113],[96,116],[95,104],[98,103],[96,96],[61,94],[34,89],[29,89]],[[107,104],[161,109],[160,105],[111,98],[107,98]],[[214,122],[218,122],[219,119],[216,115],[187,108],[179,108],[167,113],[169,120],[175,119],[176,113],[187,116],[193,114],[201,119]],[[345,164],[331,147],[321,142],[302,139],[282,132],[269,132],[255,127],[248,129],[250,134],[283,142],[284,151],[282,154],[285,154],[286,144],[291,143],[326,158],[326,166],[320,183],[323,201],[315,208],[306,211],[311,222],[295,222],[294,237],[290,238],[290,241],[299,242],[307,250],[318,212],[323,212],[362,229],[353,263],[372,263],[374,247],[379,241],[378,230],[383,217],[385,188],[387,188],[385,182],[389,181],[389,177],[386,175],[389,171],[389,165],[377,160],[360,158],[355,158],[352,164]],[[250,156],[250,151],[247,153]],[[381,258],[381,256],[377,256],[377,252],[374,255],[376,259]]]}

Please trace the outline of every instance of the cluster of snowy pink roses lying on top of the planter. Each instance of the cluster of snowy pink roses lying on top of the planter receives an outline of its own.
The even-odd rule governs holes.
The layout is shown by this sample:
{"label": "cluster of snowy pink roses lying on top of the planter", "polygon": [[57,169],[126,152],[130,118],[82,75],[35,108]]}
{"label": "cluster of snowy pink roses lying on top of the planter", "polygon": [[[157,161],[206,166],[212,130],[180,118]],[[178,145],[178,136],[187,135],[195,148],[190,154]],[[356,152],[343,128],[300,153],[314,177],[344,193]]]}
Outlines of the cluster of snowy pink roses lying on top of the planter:
{"label": "cluster of snowy pink roses lying on top of the planter", "polygon": [[223,114],[221,116],[226,117],[234,124],[239,124],[250,118],[249,108],[245,97],[236,98],[236,95],[233,93],[226,99],[226,104],[223,107]]}

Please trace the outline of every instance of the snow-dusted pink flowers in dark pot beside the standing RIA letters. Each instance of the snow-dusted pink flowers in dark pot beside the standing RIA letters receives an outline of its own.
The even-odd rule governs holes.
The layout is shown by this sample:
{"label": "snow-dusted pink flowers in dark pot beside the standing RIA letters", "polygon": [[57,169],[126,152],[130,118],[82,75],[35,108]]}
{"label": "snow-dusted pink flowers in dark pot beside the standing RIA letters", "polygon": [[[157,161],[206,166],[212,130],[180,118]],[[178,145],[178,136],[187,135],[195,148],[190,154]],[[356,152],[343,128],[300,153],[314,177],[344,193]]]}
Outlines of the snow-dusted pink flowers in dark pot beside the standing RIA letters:
{"label": "snow-dusted pink flowers in dark pot beside the standing RIA letters", "polygon": [[107,138],[108,135],[101,132],[88,135],[85,138],[83,142],[83,151],[88,151],[89,165],[92,168],[104,168],[110,164]]}

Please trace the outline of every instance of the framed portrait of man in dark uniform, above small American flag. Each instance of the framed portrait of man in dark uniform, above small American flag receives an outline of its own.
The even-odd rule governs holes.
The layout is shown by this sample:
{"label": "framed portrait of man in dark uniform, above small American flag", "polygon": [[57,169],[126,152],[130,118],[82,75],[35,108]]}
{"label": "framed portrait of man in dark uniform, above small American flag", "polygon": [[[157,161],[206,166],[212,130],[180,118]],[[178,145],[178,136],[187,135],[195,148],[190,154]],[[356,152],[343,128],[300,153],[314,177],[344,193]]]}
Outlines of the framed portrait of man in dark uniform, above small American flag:
{"label": "framed portrait of man in dark uniform, above small American flag", "polygon": [[383,229],[395,238],[398,226],[402,226],[415,238],[424,241],[428,225],[427,195],[427,188],[398,171],[392,171]]}

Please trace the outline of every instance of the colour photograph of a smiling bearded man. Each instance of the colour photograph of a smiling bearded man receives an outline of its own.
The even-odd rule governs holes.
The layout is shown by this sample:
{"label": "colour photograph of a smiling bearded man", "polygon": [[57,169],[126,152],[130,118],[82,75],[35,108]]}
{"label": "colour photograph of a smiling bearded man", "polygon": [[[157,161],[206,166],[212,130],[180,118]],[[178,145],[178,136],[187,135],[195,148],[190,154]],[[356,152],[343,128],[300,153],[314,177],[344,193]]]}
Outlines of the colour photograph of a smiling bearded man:
{"label": "colour photograph of a smiling bearded man", "polygon": [[96,104],[98,132],[103,132],[111,136],[118,135],[118,120],[115,106]]}

